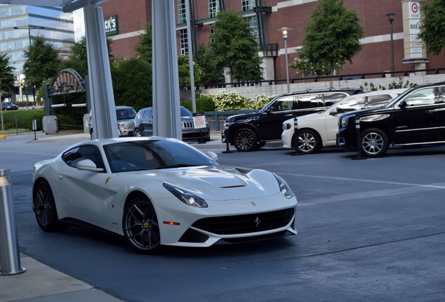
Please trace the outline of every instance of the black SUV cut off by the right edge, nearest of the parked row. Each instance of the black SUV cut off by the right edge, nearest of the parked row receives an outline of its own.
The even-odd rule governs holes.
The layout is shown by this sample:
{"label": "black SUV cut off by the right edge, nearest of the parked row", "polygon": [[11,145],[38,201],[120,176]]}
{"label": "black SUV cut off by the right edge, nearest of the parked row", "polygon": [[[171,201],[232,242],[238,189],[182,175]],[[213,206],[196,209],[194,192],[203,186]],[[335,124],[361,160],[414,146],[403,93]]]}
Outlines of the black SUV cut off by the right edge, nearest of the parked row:
{"label": "black SUV cut off by the right edge, nearest of the parked row", "polygon": [[355,111],[339,117],[337,145],[357,150],[355,119],[360,120],[360,148],[380,157],[390,145],[445,143],[445,82],[415,86],[383,108]]}

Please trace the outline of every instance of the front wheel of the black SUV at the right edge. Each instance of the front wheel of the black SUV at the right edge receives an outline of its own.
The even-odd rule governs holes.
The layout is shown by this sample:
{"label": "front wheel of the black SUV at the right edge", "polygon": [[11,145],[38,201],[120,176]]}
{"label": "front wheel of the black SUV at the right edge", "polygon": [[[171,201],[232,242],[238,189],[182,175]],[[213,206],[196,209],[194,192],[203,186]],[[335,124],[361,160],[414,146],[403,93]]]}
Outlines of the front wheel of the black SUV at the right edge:
{"label": "front wheel of the black SUV at the right edge", "polygon": [[381,157],[389,148],[388,136],[380,129],[366,129],[361,137],[360,148],[367,157]]}

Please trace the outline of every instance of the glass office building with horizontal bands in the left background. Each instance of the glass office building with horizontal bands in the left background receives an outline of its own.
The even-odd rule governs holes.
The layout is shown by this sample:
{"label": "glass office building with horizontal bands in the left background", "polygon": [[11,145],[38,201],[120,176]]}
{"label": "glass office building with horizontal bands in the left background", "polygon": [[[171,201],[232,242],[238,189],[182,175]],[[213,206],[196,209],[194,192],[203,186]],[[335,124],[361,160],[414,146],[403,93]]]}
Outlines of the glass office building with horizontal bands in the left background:
{"label": "glass office building with horizontal bands in the left background", "polygon": [[[23,89],[20,99],[19,85],[23,78],[24,50],[34,36],[43,36],[55,45],[60,57],[66,59],[74,43],[73,14],[62,8],[0,4],[0,52],[7,54],[10,66],[15,67],[16,101],[32,101],[28,89]],[[32,94],[32,92],[31,92]]]}

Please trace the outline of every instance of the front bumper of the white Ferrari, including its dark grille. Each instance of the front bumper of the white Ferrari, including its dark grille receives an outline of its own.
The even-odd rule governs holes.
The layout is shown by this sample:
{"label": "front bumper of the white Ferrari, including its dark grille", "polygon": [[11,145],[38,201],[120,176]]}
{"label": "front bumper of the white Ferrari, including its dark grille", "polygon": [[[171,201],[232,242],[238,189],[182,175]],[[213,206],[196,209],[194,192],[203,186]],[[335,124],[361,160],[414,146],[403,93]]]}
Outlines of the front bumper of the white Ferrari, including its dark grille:
{"label": "front bumper of the white Ferrari, including its dark grille", "polygon": [[[281,193],[279,193],[281,194]],[[274,200],[274,202],[271,202]],[[208,201],[209,208],[190,208],[169,201],[157,203],[161,244],[209,247],[216,243],[240,243],[297,234],[297,199],[267,196],[254,201]],[[255,206],[253,205],[255,203]]]}

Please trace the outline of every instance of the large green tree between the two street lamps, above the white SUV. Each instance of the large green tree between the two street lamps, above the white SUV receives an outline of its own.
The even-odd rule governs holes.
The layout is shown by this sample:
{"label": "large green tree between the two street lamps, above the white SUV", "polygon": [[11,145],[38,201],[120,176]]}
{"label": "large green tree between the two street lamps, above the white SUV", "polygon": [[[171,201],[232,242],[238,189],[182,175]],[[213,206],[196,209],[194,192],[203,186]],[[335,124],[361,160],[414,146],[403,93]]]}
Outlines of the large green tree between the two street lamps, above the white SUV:
{"label": "large green tree between the two street lamps, above the white SUV", "polygon": [[360,18],[344,7],[343,0],[320,0],[311,13],[299,57],[290,64],[304,75],[328,75],[360,52],[364,31]]}

